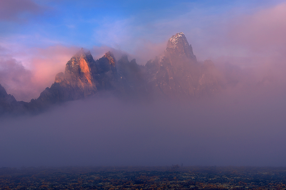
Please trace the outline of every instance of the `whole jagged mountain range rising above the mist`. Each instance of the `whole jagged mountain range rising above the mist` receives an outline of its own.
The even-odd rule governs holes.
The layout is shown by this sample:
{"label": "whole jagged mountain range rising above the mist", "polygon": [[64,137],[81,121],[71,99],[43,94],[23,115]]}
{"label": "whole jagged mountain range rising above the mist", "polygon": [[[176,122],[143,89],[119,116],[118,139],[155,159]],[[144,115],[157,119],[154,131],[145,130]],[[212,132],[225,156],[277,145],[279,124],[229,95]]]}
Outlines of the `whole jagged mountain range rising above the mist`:
{"label": "whole jagged mountain range rising above the mist", "polygon": [[198,63],[185,35],[177,33],[167,43],[163,56],[145,66],[123,55],[119,60],[108,51],[94,60],[81,48],[56,74],[51,87],[30,102],[16,101],[0,84],[0,114],[38,113],[52,104],[78,100],[99,93],[118,97],[173,99],[211,96],[222,89],[222,77],[211,60]]}

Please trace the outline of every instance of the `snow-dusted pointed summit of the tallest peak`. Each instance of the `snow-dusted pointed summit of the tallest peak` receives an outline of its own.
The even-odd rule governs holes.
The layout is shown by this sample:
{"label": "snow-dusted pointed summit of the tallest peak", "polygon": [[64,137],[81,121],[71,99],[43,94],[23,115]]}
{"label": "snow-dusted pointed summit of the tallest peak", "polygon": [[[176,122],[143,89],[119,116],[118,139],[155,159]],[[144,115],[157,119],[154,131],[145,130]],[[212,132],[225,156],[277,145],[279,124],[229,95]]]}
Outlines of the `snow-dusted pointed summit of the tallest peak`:
{"label": "snow-dusted pointed summit of the tallest peak", "polygon": [[167,43],[167,48],[178,50],[181,55],[186,55],[188,58],[196,61],[196,56],[193,53],[192,46],[189,45],[184,33],[176,33]]}

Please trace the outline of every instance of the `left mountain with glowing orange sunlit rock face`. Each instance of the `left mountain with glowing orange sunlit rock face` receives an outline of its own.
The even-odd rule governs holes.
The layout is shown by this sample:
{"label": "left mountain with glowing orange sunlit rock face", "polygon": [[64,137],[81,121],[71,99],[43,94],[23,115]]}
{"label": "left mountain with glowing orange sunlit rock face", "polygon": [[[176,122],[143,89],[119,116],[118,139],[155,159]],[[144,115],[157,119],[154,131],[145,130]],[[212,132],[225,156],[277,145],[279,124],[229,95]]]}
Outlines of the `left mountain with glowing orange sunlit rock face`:
{"label": "left mountain with glowing orange sunlit rock face", "polygon": [[90,53],[81,48],[65,66],[65,72],[55,76],[51,88],[46,88],[39,98],[40,103],[54,103],[77,100],[96,94],[104,83],[98,74],[98,68]]}

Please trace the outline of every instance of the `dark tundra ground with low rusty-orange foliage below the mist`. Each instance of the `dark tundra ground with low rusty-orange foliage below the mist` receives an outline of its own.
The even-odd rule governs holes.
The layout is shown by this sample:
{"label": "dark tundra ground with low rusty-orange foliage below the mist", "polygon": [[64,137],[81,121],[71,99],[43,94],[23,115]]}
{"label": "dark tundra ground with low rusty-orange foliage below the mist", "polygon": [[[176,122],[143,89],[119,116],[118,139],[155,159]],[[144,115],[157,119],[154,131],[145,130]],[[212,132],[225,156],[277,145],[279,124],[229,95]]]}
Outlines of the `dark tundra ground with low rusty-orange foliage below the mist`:
{"label": "dark tundra ground with low rusty-orange foliage below the mist", "polygon": [[286,168],[2,167],[0,189],[286,189]]}

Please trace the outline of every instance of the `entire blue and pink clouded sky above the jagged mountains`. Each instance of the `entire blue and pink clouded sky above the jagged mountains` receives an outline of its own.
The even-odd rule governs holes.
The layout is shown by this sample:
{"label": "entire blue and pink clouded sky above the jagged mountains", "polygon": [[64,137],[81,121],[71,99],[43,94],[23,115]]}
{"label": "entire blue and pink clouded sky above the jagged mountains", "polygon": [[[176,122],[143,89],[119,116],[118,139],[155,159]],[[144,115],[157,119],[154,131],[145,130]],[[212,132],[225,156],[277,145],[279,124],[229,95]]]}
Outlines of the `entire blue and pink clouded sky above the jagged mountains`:
{"label": "entire blue and pink clouded sky above the jagged mountains", "polygon": [[128,54],[144,65],[181,31],[198,61],[257,67],[257,80],[273,67],[269,60],[283,59],[279,31],[285,27],[285,3],[280,0],[1,4],[0,84],[17,100],[37,98],[81,47],[95,59],[112,50],[116,58]]}

